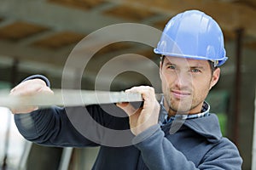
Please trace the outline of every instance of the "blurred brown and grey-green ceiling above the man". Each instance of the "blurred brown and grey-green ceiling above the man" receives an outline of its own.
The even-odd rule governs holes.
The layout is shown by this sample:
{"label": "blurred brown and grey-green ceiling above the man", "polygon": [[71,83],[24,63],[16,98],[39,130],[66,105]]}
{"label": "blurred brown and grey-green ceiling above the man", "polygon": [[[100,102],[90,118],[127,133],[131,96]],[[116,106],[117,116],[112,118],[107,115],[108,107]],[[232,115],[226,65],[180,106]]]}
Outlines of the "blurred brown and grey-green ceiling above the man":
{"label": "blurred brown and grey-green ceiling above the man", "polygon": [[[21,67],[32,72],[61,75],[72,49],[93,31],[127,22],[162,30],[173,15],[192,8],[201,9],[217,20],[226,42],[236,42],[236,30],[242,29],[243,47],[256,51],[254,0],[1,0],[0,63],[8,65],[12,59],[19,59]],[[98,47],[102,44],[90,46]],[[115,42],[98,50],[90,59],[87,76],[95,77],[109,59],[127,53],[141,54],[158,62],[151,47],[137,42]],[[126,63],[140,62],[136,58],[131,60]],[[148,67],[143,63],[139,66]],[[134,74],[125,77],[130,80]],[[107,81],[108,77],[105,78]]]}

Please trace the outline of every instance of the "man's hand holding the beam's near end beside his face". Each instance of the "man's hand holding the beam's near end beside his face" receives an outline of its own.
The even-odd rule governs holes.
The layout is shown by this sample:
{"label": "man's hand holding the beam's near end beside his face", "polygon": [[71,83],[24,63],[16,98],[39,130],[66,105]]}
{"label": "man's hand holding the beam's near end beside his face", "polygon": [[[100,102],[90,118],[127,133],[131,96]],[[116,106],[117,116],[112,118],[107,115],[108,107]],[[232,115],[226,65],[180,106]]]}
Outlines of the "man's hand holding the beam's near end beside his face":
{"label": "man's hand holding the beam's near end beside his face", "polygon": [[117,104],[129,116],[132,133],[137,135],[158,123],[160,104],[155,99],[154,88],[147,86],[134,87],[126,90],[125,93],[139,93],[142,94],[144,99],[143,107],[137,110],[130,103]]}

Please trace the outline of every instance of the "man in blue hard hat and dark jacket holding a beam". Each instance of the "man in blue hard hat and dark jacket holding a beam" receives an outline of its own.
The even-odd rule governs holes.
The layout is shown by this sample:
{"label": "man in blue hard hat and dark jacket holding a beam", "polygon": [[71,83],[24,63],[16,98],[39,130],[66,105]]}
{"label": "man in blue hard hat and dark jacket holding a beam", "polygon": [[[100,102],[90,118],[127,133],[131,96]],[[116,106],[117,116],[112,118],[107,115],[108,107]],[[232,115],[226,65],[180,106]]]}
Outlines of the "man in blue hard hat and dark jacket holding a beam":
{"label": "man in blue hard hat and dark jacket holding a beam", "polygon": [[[126,90],[142,94],[142,107],[117,104],[128,118],[111,116],[100,105],[86,106],[89,115],[102,126],[131,129],[131,145],[102,144],[108,134],[98,132],[96,127],[84,128],[93,131],[99,140],[85,138],[73,127],[67,110],[57,107],[14,111],[26,113],[15,114],[20,133],[38,144],[101,145],[94,169],[241,169],[241,156],[235,144],[222,137],[218,118],[209,113],[210,106],[204,101],[218,82],[218,66],[227,59],[218,24],[197,10],[177,14],[166,25],[154,52],[162,57],[160,79],[164,95],[160,103],[155,99],[154,88],[142,86]],[[52,93],[49,81],[33,76],[15,87],[11,95],[41,91]],[[78,110],[79,107],[72,108]]]}

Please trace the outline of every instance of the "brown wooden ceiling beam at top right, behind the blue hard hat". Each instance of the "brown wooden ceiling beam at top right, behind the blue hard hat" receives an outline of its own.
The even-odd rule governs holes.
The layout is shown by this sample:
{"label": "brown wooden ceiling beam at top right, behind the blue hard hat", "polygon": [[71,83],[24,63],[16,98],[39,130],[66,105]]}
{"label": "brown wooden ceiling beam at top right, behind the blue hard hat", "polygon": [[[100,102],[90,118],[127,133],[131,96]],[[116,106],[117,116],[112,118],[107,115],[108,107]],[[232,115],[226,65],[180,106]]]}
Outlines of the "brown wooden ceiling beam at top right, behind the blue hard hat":
{"label": "brown wooden ceiling beam at top right, behind the blue hard hat", "polygon": [[242,3],[215,0],[108,0],[109,2],[148,8],[171,16],[187,9],[200,9],[217,20],[223,29],[234,31],[244,28],[248,36],[256,37],[256,10]]}

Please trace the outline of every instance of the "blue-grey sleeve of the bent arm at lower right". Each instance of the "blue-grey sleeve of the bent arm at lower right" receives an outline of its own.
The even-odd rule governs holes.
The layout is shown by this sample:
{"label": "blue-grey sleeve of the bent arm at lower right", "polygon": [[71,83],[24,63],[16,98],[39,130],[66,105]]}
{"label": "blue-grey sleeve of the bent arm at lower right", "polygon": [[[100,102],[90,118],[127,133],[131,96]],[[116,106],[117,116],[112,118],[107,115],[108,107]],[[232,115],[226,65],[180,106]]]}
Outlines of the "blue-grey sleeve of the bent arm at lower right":
{"label": "blue-grey sleeve of the bent arm at lower right", "polygon": [[133,139],[133,144],[141,150],[143,161],[149,169],[241,169],[241,157],[233,145],[220,144],[205,156],[199,167],[188,161],[165,138],[159,125],[148,128]]}

